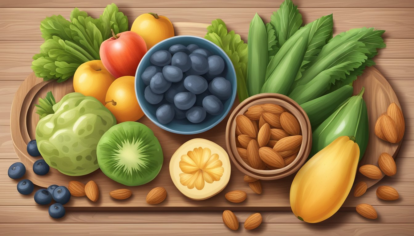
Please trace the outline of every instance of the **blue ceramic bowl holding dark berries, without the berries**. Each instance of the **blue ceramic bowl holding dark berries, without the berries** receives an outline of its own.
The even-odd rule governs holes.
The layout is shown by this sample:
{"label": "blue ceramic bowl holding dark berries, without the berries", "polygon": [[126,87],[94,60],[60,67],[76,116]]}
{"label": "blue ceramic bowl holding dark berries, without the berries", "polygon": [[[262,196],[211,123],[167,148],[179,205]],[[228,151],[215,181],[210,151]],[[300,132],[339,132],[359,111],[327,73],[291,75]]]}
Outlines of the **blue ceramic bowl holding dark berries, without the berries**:
{"label": "blue ceramic bowl holding dark berries, without the berries", "polygon": [[[219,55],[221,58],[223,58],[224,63],[226,65],[224,68],[223,77],[231,83],[231,96],[223,104],[224,110],[223,112],[221,112],[221,114],[213,116],[207,113],[205,120],[197,124],[191,123],[187,119],[173,119],[168,124],[161,124],[158,122],[155,112],[160,105],[167,102],[164,99],[161,101],[161,103],[152,105],[148,103],[147,100],[145,100],[144,89],[146,86],[141,79],[141,74],[147,67],[152,65],[149,62],[149,57],[151,57],[151,55],[154,52],[158,50],[168,50],[174,44],[183,44],[185,46],[189,44],[197,44],[200,48],[207,49],[210,52],[212,52],[213,55]],[[135,95],[137,95],[138,103],[140,104],[140,107],[144,114],[161,129],[165,129],[166,131],[180,134],[202,133],[219,124],[221,120],[223,120],[224,117],[226,117],[227,113],[229,113],[231,107],[233,106],[234,99],[236,98],[236,88],[236,72],[234,70],[233,64],[231,63],[230,58],[217,45],[204,38],[200,38],[197,36],[175,36],[172,38],[167,38],[166,40],[157,43],[156,45],[154,45],[154,47],[148,50],[144,57],[142,57],[142,60],[138,65],[137,72],[135,74]]]}

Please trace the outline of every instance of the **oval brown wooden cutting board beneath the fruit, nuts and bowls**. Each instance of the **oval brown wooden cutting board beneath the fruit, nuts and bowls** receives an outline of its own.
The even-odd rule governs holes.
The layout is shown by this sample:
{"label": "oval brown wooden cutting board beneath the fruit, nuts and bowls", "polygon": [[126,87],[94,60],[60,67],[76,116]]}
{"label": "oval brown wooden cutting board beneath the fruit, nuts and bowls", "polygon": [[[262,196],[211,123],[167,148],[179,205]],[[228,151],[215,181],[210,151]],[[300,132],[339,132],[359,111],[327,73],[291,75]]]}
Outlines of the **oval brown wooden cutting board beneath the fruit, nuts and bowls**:
{"label": "oval brown wooden cutting board beneath the fruit, nuts and bowls", "polygon": [[[207,24],[178,22],[174,24],[177,35],[204,36]],[[370,139],[365,156],[361,164],[377,164],[381,152],[388,152],[394,157],[400,148],[399,144],[390,144],[376,138],[373,134],[373,126],[376,118],[383,113],[391,102],[398,103],[397,96],[386,79],[371,67],[366,69],[354,85],[355,93],[358,93],[361,86],[366,88],[363,95],[368,107],[370,119]],[[159,139],[164,153],[164,164],[159,175],[150,183],[143,186],[127,187],[132,191],[132,197],[127,200],[115,200],[109,196],[109,192],[118,188],[125,188],[108,177],[100,170],[85,176],[66,176],[56,169],[51,168],[44,176],[33,173],[33,163],[41,157],[31,157],[27,154],[27,143],[35,138],[36,124],[39,122],[39,115],[35,114],[34,104],[39,98],[43,98],[48,91],[52,91],[56,101],[59,101],[67,93],[73,92],[72,80],[64,83],[56,81],[43,81],[31,73],[22,83],[14,96],[11,111],[11,134],[14,150],[19,159],[26,166],[26,178],[38,186],[47,187],[51,184],[67,186],[69,181],[77,180],[87,183],[94,180],[99,186],[99,201],[94,203],[86,197],[72,197],[65,207],[82,210],[290,210],[289,188],[294,175],[274,181],[262,181],[263,193],[258,195],[250,190],[243,181],[243,174],[232,164],[231,178],[227,187],[221,193],[203,201],[195,201],[186,198],[171,181],[168,171],[169,161],[176,149],[186,141],[193,138],[206,138],[226,149],[224,134],[228,116],[216,127],[204,133],[195,135],[179,135],[169,133],[153,124],[147,117],[142,117],[138,122],[147,125],[154,131]],[[236,101],[233,108],[238,105]],[[231,113],[231,112],[230,112]],[[229,113],[229,114],[230,114]],[[367,180],[358,175],[356,182],[367,181],[372,186],[379,180]],[[154,187],[162,186],[168,193],[166,200],[158,205],[148,205],[145,202],[147,193]],[[243,203],[230,203],[224,198],[224,194],[232,190],[242,190],[248,193],[248,198]],[[17,194],[17,192],[16,192]],[[352,194],[351,194],[352,195]],[[343,207],[355,207],[359,202],[354,197],[349,197]]]}

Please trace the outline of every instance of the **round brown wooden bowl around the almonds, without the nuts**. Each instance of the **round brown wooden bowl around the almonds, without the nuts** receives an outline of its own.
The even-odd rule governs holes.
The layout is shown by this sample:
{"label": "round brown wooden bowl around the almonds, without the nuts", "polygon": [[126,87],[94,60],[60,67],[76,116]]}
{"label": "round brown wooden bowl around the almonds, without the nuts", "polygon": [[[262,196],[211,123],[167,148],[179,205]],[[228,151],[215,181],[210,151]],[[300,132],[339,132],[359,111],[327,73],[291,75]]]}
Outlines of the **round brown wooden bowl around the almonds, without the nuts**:
{"label": "round brown wooden bowl around the almonds, without the nuts", "polygon": [[[237,152],[236,147],[236,117],[244,114],[249,107],[259,104],[272,103],[280,105],[298,119],[302,132],[302,144],[296,159],[289,165],[274,170],[260,170],[250,167],[244,162]],[[272,180],[281,179],[296,172],[306,161],[312,147],[312,128],[306,112],[291,98],[278,93],[260,93],[244,100],[238,105],[229,117],[226,127],[226,148],[233,163],[244,174],[257,179]]]}

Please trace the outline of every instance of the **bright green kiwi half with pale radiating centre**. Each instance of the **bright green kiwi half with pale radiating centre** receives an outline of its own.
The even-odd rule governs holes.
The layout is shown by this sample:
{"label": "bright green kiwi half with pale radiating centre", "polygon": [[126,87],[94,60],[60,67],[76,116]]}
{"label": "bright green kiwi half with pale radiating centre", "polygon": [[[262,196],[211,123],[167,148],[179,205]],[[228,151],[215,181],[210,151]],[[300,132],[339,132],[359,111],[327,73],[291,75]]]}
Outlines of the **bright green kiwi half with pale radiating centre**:
{"label": "bright green kiwi half with pale radiating centre", "polygon": [[106,176],[127,186],[152,181],[164,161],[158,139],[138,122],[112,126],[99,140],[96,156]]}

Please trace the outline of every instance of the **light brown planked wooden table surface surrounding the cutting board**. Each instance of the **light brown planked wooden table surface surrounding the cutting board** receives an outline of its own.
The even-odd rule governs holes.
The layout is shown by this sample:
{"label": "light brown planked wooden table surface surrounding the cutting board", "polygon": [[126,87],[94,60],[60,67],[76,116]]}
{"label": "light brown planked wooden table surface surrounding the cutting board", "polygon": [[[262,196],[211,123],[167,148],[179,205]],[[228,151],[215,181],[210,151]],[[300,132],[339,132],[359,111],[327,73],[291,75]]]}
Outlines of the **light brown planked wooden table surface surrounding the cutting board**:
{"label": "light brown planked wooden table surface surrounding the cutting board", "polygon": [[[255,12],[269,21],[282,0],[118,0],[115,2],[130,21],[138,15],[156,12],[172,22],[200,22],[223,19],[230,29],[247,39],[248,25]],[[377,68],[388,79],[400,100],[406,119],[402,148],[396,159],[397,174],[379,185],[399,191],[397,201],[382,201],[375,186],[364,198],[375,207],[378,219],[369,220],[353,209],[337,212],[320,224],[306,224],[286,211],[262,211],[263,224],[246,231],[243,224],[231,231],[218,211],[194,212],[87,212],[73,209],[63,219],[49,217],[47,207],[37,205],[32,196],[20,195],[17,181],[7,169],[18,161],[10,137],[10,107],[17,88],[31,72],[31,57],[42,43],[40,21],[52,14],[68,18],[74,7],[99,17],[108,0],[2,0],[0,3],[0,235],[63,234],[255,234],[255,235],[414,235],[414,1],[413,0],[294,0],[303,21],[308,23],[333,13],[334,34],[356,27],[386,30],[387,48],[375,57]],[[362,202],[361,202],[362,203]],[[236,212],[240,222],[254,212]]]}

